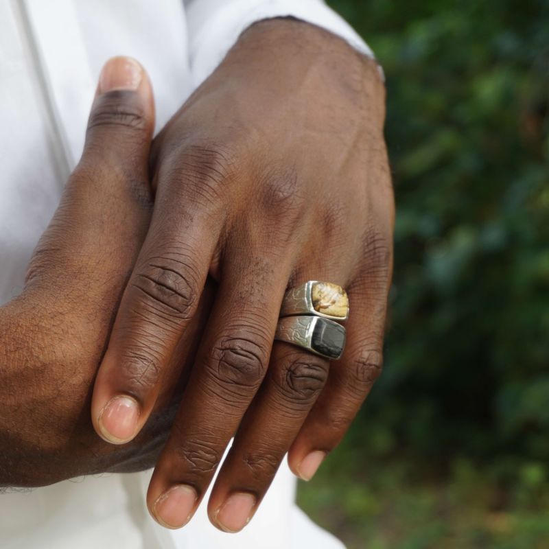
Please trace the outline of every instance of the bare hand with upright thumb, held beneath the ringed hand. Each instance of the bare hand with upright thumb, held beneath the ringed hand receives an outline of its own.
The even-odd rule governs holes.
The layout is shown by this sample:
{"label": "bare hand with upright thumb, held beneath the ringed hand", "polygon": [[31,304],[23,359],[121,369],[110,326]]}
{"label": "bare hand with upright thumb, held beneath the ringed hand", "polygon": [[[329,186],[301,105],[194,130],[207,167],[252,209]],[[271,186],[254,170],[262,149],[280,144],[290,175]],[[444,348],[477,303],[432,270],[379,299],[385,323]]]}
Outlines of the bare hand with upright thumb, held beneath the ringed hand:
{"label": "bare hand with upright thumb, held beneath the ringed hand", "polygon": [[194,358],[208,292],[134,443],[104,443],[89,421],[113,312],[150,222],[153,126],[147,76],[136,63],[113,60],[95,97],[84,154],[34,252],[25,290],[0,308],[0,486],[151,467],[172,425],[178,384],[185,383],[180,370]]}

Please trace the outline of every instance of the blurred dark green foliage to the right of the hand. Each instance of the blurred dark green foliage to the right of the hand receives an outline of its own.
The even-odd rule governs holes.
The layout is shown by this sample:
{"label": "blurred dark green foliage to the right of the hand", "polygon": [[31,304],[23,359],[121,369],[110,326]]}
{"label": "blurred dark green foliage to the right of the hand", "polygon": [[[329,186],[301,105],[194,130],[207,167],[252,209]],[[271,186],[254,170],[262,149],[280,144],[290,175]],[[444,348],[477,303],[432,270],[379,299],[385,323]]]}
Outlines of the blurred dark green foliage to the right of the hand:
{"label": "blurred dark green foliage to the right of the hand", "polygon": [[[483,478],[506,505],[540,504],[533,494],[549,476],[549,1],[329,3],[384,67],[397,199],[386,366],[349,435],[353,451],[338,461],[404,462],[408,476],[413,464],[416,476],[447,483],[467,463],[477,472],[466,486]],[[440,503],[436,490],[424,492]],[[360,513],[375,515],[384,493],[364,493]],[[531,520],[549,544],[549,523]],[[398,547],[493,546],[480,534],[443,544],[446,526],[434,521],[425,539]],[[498,548],[537,547],[498,539]]]}

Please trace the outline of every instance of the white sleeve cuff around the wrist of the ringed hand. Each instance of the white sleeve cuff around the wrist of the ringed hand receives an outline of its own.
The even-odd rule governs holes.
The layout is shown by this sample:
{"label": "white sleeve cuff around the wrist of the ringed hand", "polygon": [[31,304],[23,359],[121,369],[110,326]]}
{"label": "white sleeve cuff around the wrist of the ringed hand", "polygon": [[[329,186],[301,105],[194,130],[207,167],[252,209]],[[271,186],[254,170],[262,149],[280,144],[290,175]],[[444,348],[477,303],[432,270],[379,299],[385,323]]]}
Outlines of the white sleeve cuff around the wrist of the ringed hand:
{"label": "white sleeve cuff around the wrist of the ringed hand", "polygon": [[214,70],[247,27],[273,17],[292,16],[323,27],[366,56],[371,49],[323,0],[186,0],[189,57],[195,86]]}

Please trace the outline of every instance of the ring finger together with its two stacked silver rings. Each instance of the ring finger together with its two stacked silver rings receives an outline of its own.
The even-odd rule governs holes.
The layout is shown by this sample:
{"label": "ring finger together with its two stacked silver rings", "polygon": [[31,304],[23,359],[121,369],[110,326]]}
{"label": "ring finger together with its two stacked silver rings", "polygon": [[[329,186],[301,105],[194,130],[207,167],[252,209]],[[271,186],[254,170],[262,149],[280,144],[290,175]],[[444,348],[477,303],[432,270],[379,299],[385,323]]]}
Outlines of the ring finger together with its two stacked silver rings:
{"label": "ring finger together with its two stacked silver rings", "polygon": [[339,290],[334,285],[307,283],[288,291],[282,314],[306,316],[285,316],[279,321],[288,331],[278,331],[283,341],[274,343],[266,379],[246,411],[213,487],[209,516],[222,530],[235,532],[249,522],[325,386],[328,356],[340,354],[344,339],[338,336],[344,338],[344,329],[320,315],[347,318],[347,296]]}

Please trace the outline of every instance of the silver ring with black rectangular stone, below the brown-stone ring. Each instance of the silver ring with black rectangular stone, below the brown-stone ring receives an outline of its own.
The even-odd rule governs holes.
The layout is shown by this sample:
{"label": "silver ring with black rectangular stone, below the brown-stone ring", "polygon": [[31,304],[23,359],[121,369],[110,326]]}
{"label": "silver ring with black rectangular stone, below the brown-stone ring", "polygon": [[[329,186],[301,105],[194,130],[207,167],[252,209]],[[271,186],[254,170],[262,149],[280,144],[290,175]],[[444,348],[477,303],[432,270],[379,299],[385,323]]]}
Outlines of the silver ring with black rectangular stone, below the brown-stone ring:
{"label": "silver ring with black rectangular stone, below the brown-stone ring", "polygon": [[321,316],[286,316],[277,325],[274,339],[303,347],[317,355],[338,360],[345,348],[342,325]]}

